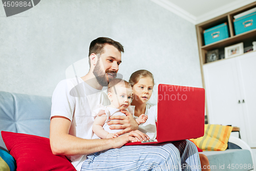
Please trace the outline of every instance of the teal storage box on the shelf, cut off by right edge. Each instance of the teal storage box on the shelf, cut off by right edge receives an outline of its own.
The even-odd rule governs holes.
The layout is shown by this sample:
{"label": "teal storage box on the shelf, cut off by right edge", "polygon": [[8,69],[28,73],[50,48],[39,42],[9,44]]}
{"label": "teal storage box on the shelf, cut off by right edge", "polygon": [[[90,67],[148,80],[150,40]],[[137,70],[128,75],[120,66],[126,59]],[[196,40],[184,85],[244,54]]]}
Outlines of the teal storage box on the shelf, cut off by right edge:
{"label": "teal storage box on the shelf, cut off by right edge", "polygon": [[234,20],[234,32],[237,34],[256,29],[256,12]]}

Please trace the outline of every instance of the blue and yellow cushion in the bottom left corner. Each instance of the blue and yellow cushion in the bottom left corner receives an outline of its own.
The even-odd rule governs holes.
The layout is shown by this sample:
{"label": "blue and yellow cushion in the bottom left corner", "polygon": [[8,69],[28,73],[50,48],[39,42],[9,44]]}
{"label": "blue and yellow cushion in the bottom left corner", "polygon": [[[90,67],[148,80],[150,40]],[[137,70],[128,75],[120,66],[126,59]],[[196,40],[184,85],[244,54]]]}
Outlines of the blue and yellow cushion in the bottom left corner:
{"label": "blue and yellow cushion in the bottom left corner", "polygon": [[15,163],[14,158],[9,153],[0,149],[0,170],[14,171]]}

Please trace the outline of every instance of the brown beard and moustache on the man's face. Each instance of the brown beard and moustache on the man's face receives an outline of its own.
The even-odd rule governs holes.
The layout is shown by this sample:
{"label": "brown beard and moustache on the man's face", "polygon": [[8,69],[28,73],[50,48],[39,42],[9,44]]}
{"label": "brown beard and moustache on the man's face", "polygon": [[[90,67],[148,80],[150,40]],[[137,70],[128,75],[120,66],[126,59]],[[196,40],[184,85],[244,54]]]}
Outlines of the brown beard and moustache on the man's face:
{"label": "brown beard and moustache on the man's face", "polygon": [[108,74],[106,73],[113,73],[113,78],[116,77],[116,73],[117,71],[112,71],[112,70],[109,70],[107,69],[105,72],[100,68],[100,65],[99,65],[99,61],[97,61],[94,69],[93,69],[93,74],[95,75],[96,79],[97,79],[97,82],[101,85],[101,86],[108,86],[109,85],[109,82],[112,80],[108,77]]}

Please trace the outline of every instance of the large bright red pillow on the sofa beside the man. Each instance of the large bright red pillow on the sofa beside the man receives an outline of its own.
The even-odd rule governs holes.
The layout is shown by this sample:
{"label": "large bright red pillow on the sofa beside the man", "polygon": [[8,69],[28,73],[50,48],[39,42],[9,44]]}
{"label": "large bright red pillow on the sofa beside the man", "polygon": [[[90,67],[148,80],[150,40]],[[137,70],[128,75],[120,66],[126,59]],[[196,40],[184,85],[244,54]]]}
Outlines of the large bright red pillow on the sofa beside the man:
{"label": "large bright red pillow on the sofa beside the man", "polygon": [[49,138],[1,131],[18,170],[76,170],[65,156],[52,154]]}

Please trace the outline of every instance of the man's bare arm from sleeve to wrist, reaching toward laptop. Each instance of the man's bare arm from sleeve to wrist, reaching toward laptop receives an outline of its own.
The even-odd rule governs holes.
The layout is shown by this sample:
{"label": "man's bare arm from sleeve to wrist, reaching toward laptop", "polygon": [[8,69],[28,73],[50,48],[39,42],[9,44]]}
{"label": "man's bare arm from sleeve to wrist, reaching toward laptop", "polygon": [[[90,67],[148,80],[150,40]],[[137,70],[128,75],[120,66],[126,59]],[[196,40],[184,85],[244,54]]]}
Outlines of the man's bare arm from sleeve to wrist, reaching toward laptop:
{"label": "man's bare arm from sleeve to wrist, reaching toward laptop", "polygon": [[50,123],[50,144],[55,155],[87,155],[115,148],[111,139],[86,140],[69,135],[71,121],[65,118],[52,118]]}

